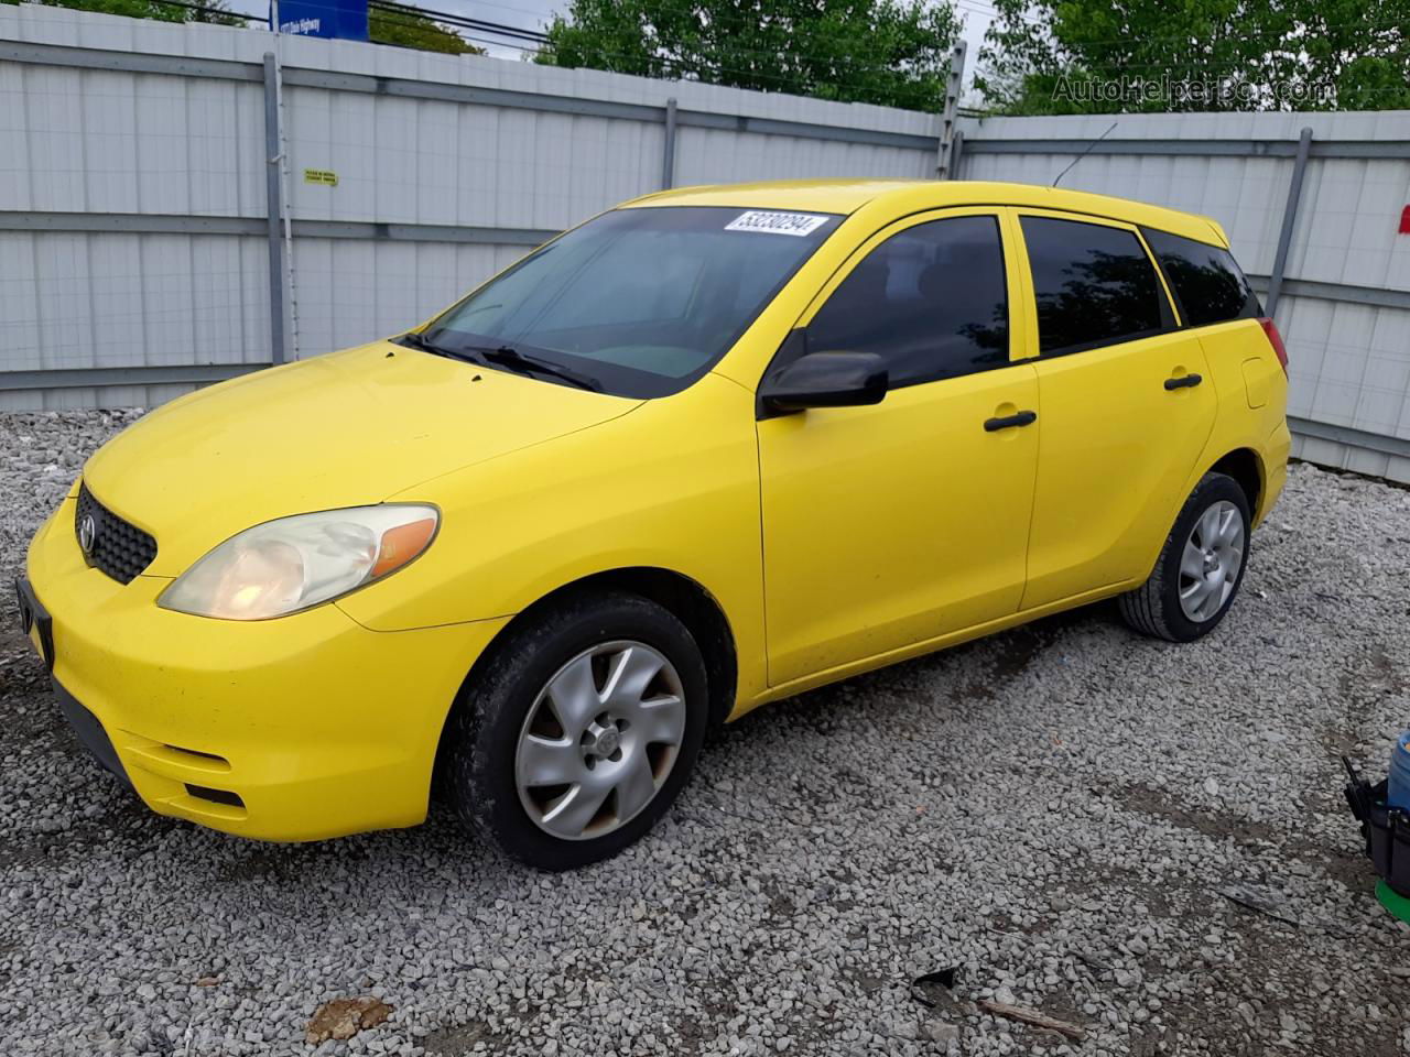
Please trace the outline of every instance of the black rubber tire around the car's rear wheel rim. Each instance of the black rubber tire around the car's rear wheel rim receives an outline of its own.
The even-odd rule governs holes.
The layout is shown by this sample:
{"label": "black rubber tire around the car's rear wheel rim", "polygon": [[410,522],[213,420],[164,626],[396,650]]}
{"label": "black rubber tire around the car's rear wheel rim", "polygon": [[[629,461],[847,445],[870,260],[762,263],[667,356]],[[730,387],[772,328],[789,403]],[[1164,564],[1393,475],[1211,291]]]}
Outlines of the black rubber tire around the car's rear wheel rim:
{"label": "black rubber tire around the car's rear wheel rim", "polygon": [[[1224,599],[1218,610],[1211,616],[1191,620],[1180,605],[1180,558],[1184,544],[1190,538],[1196,523],[1215,503],[1232,503],[1244,520],[1242,561],[1234,578],[1234,589]],[[1249,543],[1252,526],[1248,509],[1248,496],[1234,478],[1225,474],[1206,474],[1194,492],[1184,500],[1175,526],[1160,548],[1155,569],[1135,591],[1121,595],[1117,600],[1122,619],[1142,634],[1152,638],[1165,638],[1169,643],[1193,643],[1218,627],[1234,599],[1238,598],[1239,585],[1248,571]]]}

